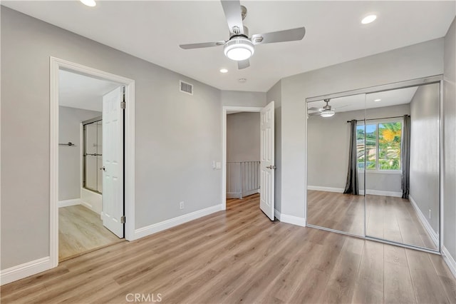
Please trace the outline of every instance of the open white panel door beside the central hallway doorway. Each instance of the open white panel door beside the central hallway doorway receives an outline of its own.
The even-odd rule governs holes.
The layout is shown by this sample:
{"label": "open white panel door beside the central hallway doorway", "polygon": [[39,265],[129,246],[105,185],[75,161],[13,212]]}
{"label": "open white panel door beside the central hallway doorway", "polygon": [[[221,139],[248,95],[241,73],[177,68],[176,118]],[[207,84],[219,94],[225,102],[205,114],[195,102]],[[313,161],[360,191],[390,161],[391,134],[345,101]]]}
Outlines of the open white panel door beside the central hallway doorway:
{"label": "open white panel door beside the central hallway doorway", "polygon": [[274,101],[261,110],[259,208],[274,221]]}

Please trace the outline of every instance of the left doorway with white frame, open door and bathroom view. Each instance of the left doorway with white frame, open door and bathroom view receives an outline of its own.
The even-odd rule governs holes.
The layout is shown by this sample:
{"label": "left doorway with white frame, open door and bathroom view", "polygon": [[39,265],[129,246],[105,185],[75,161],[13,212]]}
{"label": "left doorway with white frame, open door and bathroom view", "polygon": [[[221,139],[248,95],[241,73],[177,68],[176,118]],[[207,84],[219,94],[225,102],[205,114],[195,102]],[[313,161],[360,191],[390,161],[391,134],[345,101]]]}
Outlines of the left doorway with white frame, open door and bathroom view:
{"label": "left doorway with white frame, open door and bathroom view", "polygon": [[50,63],[50,258],[56,267],[135,238],[134,81],[53,57]]}

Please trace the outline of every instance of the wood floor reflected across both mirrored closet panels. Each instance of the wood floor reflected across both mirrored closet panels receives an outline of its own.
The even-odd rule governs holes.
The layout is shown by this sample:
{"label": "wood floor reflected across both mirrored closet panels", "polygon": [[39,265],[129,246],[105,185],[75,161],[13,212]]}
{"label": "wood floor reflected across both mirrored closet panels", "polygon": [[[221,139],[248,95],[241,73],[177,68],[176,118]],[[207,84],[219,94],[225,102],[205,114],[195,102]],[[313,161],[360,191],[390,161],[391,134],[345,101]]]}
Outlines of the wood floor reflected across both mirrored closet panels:
{"label": "wood floor reflected across both mirrored closet panels", "polygon": [[[364,196],[308,191],[307,200],[307,223],[364,234]],[[412,204],[403,198],[366,196],[366,235],[437,249]]]}

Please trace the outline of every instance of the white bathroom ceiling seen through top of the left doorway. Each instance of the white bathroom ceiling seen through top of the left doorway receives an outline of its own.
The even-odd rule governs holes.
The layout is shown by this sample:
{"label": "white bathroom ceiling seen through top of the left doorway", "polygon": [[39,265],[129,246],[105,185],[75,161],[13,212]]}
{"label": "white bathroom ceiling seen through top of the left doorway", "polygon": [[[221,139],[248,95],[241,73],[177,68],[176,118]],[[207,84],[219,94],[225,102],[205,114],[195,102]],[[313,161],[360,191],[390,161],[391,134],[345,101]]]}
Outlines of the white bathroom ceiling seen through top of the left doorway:
{"label": "white bathroom ceiling seen through top of the left doorway", "polygon": [[118,86],[118,83],[61,70],[58,71],[58,104],[101,112],[103,95]]}

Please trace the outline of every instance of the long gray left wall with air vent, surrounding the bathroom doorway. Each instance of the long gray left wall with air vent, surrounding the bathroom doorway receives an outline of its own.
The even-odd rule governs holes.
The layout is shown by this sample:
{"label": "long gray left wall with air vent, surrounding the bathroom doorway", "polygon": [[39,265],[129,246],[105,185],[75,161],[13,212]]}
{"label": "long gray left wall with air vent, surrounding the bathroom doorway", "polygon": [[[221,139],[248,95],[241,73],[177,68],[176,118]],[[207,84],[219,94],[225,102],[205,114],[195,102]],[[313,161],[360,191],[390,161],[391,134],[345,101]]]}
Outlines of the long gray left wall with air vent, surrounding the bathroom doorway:
{"label": "long gray left wall with air vent, surrounding the bathroom doorway", "polygon": [[1,269],[49,255],[49,56],[135,79],[135,228],[222,203],[218,89],[2,6]]}

